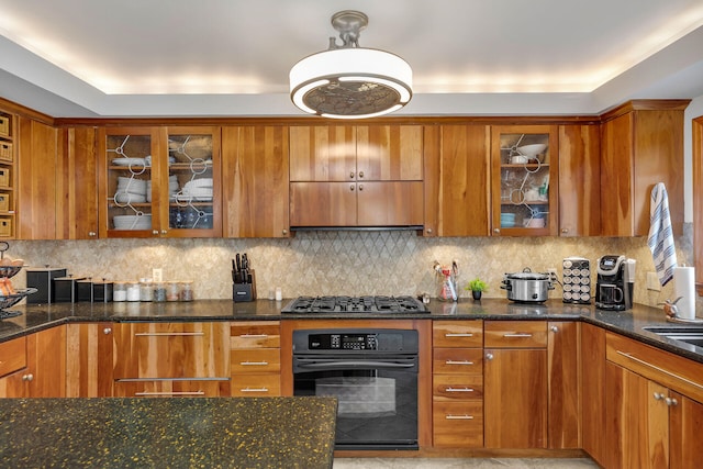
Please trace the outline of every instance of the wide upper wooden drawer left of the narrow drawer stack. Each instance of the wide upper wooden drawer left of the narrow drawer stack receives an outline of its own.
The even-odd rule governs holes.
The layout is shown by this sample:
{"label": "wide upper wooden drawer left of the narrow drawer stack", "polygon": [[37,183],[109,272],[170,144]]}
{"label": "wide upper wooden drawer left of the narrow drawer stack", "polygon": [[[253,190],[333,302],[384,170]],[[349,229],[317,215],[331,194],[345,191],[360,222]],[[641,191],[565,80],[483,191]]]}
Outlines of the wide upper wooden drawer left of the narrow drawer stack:
{"label": "wide upper wooden drawer left of the narrow drawer stack", "polygon": [[114,378],[228,378],[227,323],[116,323]]}

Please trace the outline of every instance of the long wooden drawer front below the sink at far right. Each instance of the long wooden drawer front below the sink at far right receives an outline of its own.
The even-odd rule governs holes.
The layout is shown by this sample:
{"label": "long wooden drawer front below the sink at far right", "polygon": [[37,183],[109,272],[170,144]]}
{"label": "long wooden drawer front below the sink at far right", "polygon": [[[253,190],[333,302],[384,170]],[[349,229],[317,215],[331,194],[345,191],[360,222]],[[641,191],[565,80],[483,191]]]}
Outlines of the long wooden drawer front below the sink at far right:
{"label": "long wooden drawer front below the sink at far right", "polygon": [[703,365],[676,354],[605,334],[605,357],[631,371],[703,402]]}

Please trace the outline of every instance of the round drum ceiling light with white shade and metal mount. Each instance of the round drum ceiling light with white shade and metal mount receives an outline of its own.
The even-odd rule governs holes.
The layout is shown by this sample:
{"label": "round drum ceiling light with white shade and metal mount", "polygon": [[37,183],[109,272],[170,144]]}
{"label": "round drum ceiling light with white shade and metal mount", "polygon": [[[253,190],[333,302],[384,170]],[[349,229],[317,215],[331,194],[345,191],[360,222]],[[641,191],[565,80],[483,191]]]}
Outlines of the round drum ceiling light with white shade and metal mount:
{"label": "round drum ceiling light with white shade and metal mount", "polygon": [[359,11],[332,16],[342,45],[300,60],[290,70],[290,97],[301,110],[333,119],[366,119],[388,114],[412,98],[413,70],[384,51],[359,47],[359,32],[369,22]]}

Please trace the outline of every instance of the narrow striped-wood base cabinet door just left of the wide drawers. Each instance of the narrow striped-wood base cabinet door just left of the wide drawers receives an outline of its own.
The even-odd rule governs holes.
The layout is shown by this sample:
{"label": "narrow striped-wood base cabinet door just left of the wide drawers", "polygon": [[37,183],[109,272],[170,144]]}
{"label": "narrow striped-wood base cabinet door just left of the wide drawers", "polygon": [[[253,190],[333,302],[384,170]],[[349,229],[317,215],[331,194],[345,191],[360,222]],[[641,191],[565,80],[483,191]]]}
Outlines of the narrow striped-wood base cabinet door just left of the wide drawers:
{"label": "narrow striped-wood base cabinet door just left of the wide drawers", "polygon": [[66,397],[113,395],[112,323],[66,325]]}

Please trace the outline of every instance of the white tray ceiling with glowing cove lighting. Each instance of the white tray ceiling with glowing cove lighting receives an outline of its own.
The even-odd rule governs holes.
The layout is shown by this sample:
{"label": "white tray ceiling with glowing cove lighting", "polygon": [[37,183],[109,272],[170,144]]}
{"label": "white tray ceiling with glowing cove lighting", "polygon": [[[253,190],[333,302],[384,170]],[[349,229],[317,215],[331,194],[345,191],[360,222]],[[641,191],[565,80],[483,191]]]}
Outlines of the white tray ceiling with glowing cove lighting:
{"label": "white tray ceiling with glowing cove lighting", "polygon": [[288,71],[341,10],[413,67],[399,114],[703,94],[703,0],[0,0],[0,97],[57,118],[301,115]]}

